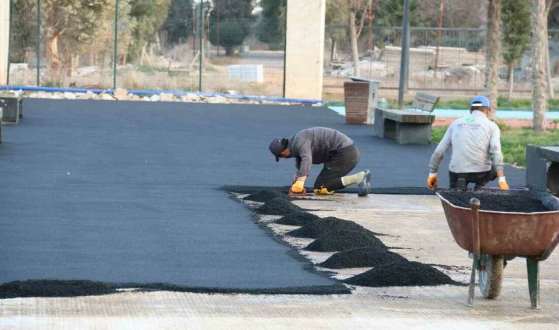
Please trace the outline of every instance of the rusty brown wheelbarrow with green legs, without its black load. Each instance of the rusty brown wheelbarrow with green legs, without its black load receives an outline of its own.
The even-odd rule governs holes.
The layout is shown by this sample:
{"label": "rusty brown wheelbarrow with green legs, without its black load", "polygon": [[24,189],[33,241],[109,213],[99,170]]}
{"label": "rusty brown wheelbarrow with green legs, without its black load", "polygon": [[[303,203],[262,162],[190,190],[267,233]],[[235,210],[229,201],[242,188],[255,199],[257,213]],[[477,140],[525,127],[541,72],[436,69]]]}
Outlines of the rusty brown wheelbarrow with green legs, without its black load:
{"label": "rusty brown wheelbarrow with green legs, without its black load", "polygon": [[[439,190],[443,192],[444,190]],[[467,305],[473,307],[476,270],[484,298],[495,299],[503,284],[506,261],[525,257],[530,305],[539,308],[539,262],[546,260],[559,243],[559,199],[543,192],[477,190],[476,194],[514,194],[538,199],[548,212],[498,212],[480,210],[472,198],[470,208],[453,205],[439,192],[454,240],[473,255]]]}

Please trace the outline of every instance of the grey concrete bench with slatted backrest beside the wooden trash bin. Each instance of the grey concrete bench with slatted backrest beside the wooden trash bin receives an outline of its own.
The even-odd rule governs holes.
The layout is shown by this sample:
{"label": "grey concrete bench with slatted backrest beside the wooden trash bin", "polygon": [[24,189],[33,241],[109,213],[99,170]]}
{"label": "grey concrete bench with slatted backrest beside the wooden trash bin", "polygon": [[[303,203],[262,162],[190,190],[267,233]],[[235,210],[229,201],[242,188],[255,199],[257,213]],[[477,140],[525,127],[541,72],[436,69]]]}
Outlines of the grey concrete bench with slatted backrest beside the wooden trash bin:
{"label": "grey concrete bench with slatted backrest beside the wooden trash bin", "polygon": [[373,135],[395,138],[396,143],[401,145],[429,144],[431,126],[435,121],[435,116],[430,113],[433,112],[438,100],[439,98],[434,95],[416,93],[412,107],[417,110],[377,108]]}

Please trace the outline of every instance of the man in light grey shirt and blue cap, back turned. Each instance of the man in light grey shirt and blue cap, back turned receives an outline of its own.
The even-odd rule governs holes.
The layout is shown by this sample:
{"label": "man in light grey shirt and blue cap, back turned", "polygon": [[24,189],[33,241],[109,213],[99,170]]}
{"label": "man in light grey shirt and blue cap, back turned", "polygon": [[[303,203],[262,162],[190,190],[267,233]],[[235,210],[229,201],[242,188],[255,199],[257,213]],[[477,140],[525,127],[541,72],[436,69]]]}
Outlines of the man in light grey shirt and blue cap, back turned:
{"label": "man in light grey shirt and blue cap, back turned", "polygon": [[443,160],[444,152],[452,146],[449,165],[451,188],[466,188],[468,183],[481,188],[497,176],[499,187],[509,190],[501,154],[501,132],[499,126],[487,118],[490,111],[489,99],[478,95],[470,102],[470,114],[457,119],[448,127],[431,157],[427,179],[429,189],[437,189],[440,161]]}

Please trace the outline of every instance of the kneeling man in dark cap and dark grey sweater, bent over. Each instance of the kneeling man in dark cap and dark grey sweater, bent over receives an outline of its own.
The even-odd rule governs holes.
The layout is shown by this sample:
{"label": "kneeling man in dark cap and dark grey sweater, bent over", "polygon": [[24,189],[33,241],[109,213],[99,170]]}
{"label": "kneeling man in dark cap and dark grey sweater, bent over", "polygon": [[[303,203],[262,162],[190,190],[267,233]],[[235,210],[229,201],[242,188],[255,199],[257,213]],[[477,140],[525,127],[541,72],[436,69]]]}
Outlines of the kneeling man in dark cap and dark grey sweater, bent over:
{"label": "kneeling man in dark cap and dark grey sweater, bent over", "polygon": [[275,138],[269,150],[276,156],[276,161],[280,161],[280,158],[295,158],[292,193],[304,191],[311,164],[323,163],[324,168],[314,184],[315,194],[329,195],[350,184],[359,184],[359,196],[366,196],[371,191],[369,170],[345,176],[357,165],[359,150],[353,140],[342,132],[325,127],[309,128],[290,138]]}

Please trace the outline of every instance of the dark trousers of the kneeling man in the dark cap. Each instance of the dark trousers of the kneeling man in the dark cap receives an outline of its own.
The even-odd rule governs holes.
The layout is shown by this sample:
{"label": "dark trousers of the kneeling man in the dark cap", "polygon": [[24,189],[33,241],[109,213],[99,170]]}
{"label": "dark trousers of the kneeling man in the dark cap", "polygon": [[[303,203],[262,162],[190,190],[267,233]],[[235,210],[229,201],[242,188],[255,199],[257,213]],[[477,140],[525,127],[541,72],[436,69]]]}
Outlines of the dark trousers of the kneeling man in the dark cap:
{"label": "dark trousers of the kneeling man in the dark cap", "polygon": [[330,151],[324,168],[315,181],[315,189],[326,188],[329,192],[344,188],[342,176],[348,174],[359,162],[359,150],[355,145]]}

